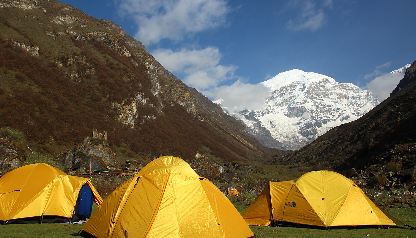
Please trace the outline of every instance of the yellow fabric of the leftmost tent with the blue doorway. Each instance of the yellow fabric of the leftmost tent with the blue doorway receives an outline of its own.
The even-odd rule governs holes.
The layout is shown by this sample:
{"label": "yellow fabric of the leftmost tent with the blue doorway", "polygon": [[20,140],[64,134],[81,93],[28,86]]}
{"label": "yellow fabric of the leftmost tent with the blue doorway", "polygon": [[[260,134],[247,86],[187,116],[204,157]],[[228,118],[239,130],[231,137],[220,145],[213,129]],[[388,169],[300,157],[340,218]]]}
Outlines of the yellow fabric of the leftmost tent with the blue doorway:
{"label": "yellow fabric of the leftmost tent with the blue doorway", "polygon": [[79,190],[85,184],[100,205],[102,198],[89,178],[67,175],[45,163],[12,170],[0,178],[0,220],[42,215],[72,218]]}

